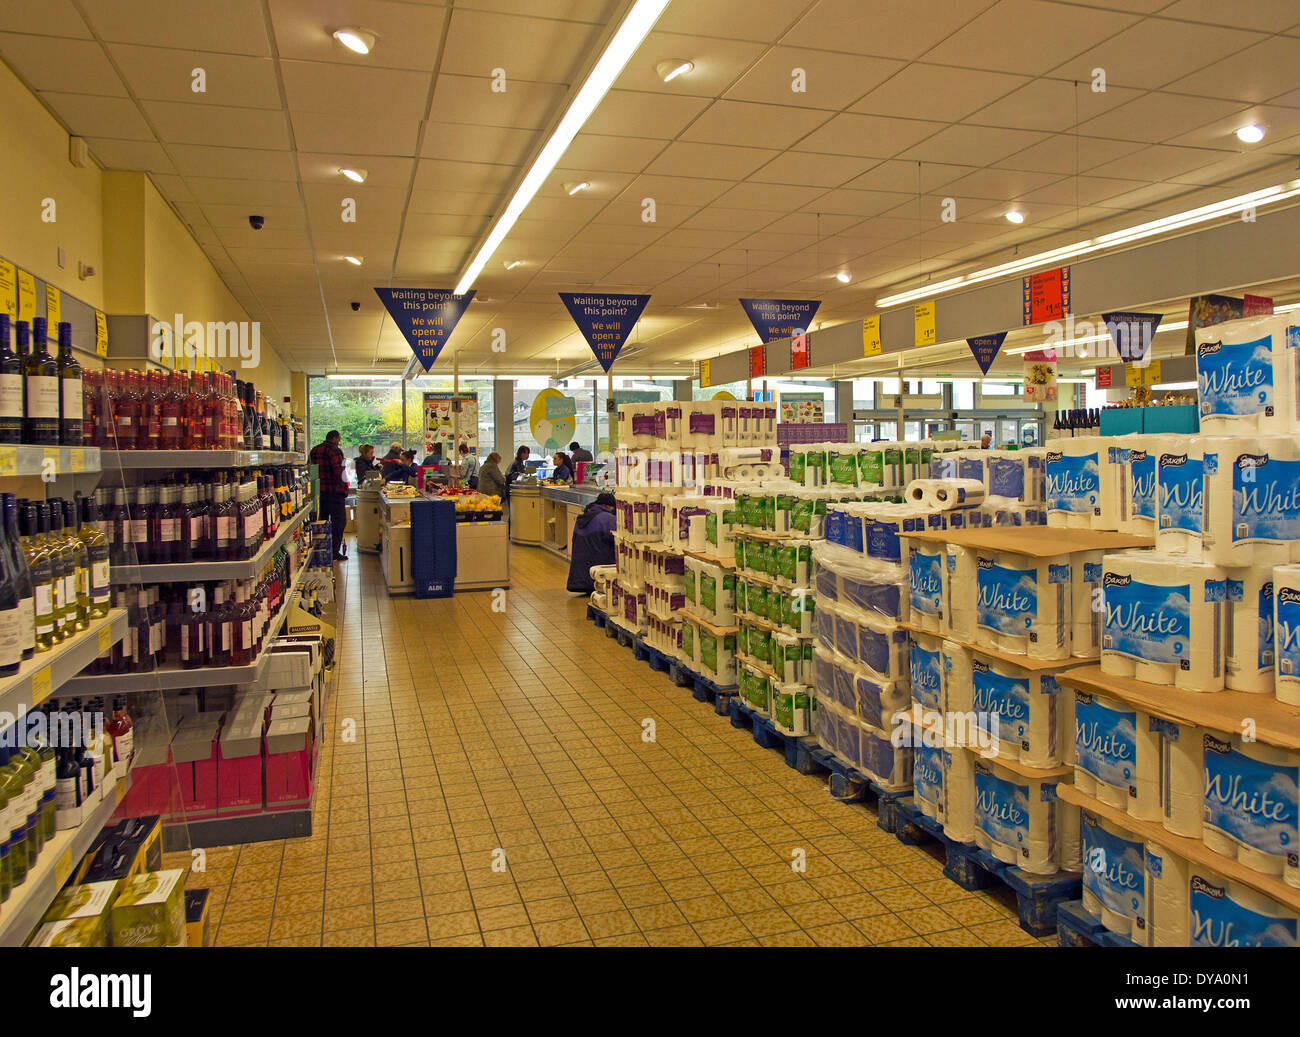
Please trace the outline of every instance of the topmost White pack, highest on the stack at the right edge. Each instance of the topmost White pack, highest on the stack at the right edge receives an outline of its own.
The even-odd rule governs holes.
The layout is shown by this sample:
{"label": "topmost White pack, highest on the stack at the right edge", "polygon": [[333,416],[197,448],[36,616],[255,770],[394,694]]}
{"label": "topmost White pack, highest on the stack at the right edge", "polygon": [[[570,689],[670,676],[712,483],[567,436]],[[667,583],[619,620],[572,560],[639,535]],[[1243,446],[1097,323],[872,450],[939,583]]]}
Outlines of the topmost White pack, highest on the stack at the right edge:
{"label": "topmost White pack, highest on the stack at the right edge", "polygon": [[1248,317],[1196,331],[1201,430],[1287,435],[1300,429],[1296,333],[1287,317]]}

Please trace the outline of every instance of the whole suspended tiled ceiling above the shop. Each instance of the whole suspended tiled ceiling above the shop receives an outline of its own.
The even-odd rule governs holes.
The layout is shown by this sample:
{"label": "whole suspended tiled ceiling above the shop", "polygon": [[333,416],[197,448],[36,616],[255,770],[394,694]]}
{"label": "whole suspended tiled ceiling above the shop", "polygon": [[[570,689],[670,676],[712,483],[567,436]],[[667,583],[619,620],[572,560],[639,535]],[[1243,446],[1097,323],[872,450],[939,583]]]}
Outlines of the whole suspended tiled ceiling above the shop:
{"label": "whole suspended tiled ceiling above the shop", "polygon": [[[372,286],[451,287],[624,9],[5,0],[0,57],[103,166],[150,173],[291,368],[359,370],[410,356]],[[372,55],[332,39],[343,25],[378,32]],[[666,58],[694,69],[663,83]],[[822,299],[835,324],[930,272],[1290,179],[1296,68],[1295,0],[673,0],[443,356],[572,369],[590,352],[556,292],[636,291],[638,366],[681,373],[757,343],[740,295]],[[1260,144],[1235,136],[1251,122]]]}

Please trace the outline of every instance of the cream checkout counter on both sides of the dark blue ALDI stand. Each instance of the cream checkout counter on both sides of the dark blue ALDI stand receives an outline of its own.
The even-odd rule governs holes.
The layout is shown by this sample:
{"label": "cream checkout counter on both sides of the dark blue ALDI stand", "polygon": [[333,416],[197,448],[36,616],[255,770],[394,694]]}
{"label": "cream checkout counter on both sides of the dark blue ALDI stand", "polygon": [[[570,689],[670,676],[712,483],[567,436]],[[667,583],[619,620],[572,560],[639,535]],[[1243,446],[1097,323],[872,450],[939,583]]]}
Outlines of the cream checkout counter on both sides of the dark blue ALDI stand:
{"label": "cream checkout counter on both sides of the dark blue ALDI stand", "polygon": [[[378,493],[380,564],[390,595],[415,594],[415,578],[411,574],[411,502],[420,496]],[[359,498],[358,516],[360,508]],[[458,521],[455,589],[493,590],[508,586],[510,541],[504,517],[493,521]]]}

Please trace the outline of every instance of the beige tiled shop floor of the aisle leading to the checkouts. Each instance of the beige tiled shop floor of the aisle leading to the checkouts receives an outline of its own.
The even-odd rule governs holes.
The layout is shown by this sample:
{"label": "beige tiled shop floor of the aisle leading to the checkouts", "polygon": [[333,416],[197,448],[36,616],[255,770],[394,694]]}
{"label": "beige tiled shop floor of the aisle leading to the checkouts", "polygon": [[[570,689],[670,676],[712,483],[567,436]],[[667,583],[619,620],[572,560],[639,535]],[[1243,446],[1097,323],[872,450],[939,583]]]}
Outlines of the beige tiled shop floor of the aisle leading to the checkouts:
{"label": "beige tiled shop floor of the aisle leading to the checkouts", "polygon": [[1054,945],[637,663],[566,565],[511,567],[494,611],[352,550],[315,834],[208,851],[217,943]]}

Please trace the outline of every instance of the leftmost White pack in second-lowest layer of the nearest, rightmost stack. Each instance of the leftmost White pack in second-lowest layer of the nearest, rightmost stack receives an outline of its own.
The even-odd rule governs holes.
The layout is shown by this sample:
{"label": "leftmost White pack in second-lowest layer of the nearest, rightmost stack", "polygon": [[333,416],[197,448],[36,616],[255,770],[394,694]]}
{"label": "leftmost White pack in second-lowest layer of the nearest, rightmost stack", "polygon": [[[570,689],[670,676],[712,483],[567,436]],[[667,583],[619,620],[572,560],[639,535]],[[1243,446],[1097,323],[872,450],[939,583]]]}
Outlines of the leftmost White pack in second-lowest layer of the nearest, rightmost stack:
{"label": "leftmost White pack in second-lowest layer of the nearest, rightmost stack", "polygon": [[1161,736],[1109,695],[1074,693],[1074,784],[1144,821],[1161,819]]}

